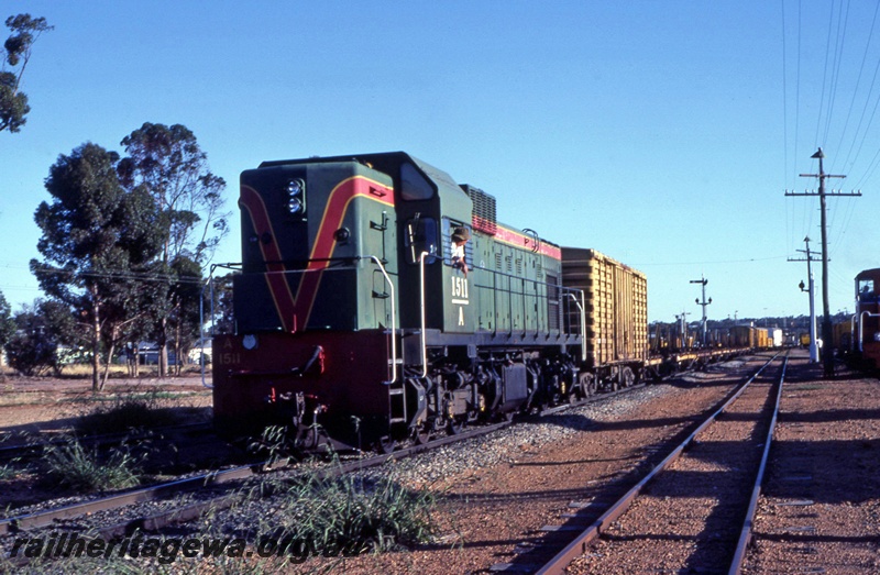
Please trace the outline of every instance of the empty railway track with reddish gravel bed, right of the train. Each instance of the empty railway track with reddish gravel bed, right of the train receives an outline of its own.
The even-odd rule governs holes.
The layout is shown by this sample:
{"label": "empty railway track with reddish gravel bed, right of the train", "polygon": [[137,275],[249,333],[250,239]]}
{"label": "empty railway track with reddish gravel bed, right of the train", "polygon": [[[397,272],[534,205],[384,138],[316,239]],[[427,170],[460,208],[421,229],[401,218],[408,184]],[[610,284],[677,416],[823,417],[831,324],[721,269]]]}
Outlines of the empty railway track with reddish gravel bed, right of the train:
{"label": "empty railway track with reddish gravel bed, right of the train", "polygon": [[[761,366],[617,501],[572,501],[560,524],[542,528],[542,544],[492,571],[738,573],[784,362]],[[765,375],[773,363],[782,364],[778,382]]]}

